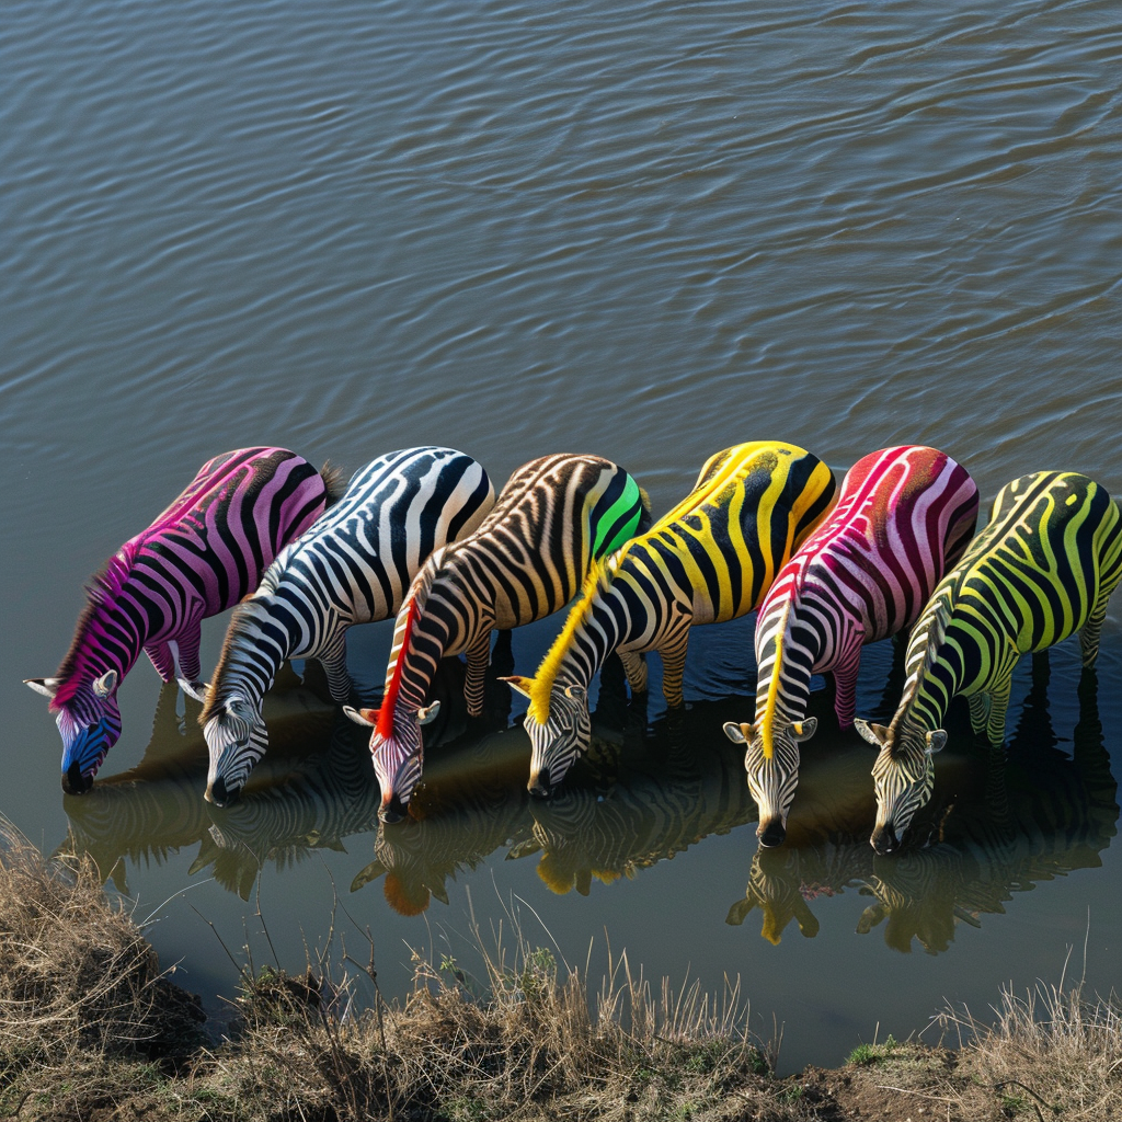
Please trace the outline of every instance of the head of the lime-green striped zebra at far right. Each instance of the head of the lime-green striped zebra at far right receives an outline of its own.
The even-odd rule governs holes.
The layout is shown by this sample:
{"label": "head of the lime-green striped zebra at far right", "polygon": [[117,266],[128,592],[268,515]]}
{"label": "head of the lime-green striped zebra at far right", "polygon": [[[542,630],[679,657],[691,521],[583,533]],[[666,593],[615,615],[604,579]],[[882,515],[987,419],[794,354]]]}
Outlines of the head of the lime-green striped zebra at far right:
{"label": "head of the lime-green striped zebra at far right", "polygon": [[876,824],[870,844],[881,856],[895,853],[916,811],[931,798],[935,788],[934,753],[947,743],[941,728],[931,732],[907,717],[886,728],[864,720],[857,732],[880,752],[873,764],[876,790]]}

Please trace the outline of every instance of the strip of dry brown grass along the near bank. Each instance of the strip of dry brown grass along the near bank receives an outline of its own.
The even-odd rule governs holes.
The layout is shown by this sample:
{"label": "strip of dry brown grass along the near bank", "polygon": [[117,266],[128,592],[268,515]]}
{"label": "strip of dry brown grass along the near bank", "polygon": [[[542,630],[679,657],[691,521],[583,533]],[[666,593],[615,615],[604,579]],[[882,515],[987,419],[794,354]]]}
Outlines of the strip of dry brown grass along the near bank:
{"label": "strip of dry brown grass along the near bank", "polygon": [[0,826],[0,1118],[1122,1120],[1122,1010],[1080,986],[1004,993],[994,1023],[948,1010],[957,1051],[890,1038],[779,1079],[738,983],[652,986],[619,955],[590,1000],[587,963],[505,922],[486,938],[472,925],[475,975],[416,955],[401,1005],[377,992],[368,936],[366,962],[340,938],[335,968],[247,969],[231,1039],[208,1043],[197,1003],[94,870],[48,863]]}

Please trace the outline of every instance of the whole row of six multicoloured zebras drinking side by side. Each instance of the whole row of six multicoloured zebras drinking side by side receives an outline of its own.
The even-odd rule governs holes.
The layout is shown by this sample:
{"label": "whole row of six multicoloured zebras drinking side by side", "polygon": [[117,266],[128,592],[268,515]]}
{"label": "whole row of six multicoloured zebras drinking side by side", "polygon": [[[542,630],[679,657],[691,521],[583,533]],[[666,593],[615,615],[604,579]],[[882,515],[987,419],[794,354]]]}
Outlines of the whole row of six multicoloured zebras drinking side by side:
{"label": "whole row of six multicoloured zebras drinking side by side", "polygon": [[[92,785],[120,735],[117,689],[145,651],[160,677],[203,701],[205,798],[237,798],[267,746],[265,693],[285,660],[315,659],[333,700],[369,726],[383,821],[403,818],[422,778],[422,726],[442,659],[465,654],[478,715],[491,632],[528,624],[576,597],[533,677],[504,681],[528,698],[530,791],[554,792],[589,744],[588,690],[611,653],[633,695],[643,655],[663,662],[681,707],[690,628],[758,609],[754,719],[743,744],[761,845],[785,839],[812,674],[829,673],[843,729],[879,748],[873,848],[898,849],[929,800],[931,754],[946,743],[956,695],[976,734],[1004,737],[1013,668],[1079,632],[1091,665],[1107,599],[1122,579],[1122,512],[1086,476],[1038,471],[1001,489],[974,536],[978,493],[950,457],[922,445],[873,452],[833,472],[793,444],[757,441],[711,457],[697,484],[653,522],[618,465],[557,454],[519,468],[496,497],[462,452],[381,456],[342,488],[277,448],[204,465],[150,526],[94,578],[54,678],[63,788]],[[212,682],[201,680],[201,620],[238,605]],[[378,709],[347,671],[347,629],[396,615]],[[855,720],[862,647],[908,637],[907,680],[888,726]]]}

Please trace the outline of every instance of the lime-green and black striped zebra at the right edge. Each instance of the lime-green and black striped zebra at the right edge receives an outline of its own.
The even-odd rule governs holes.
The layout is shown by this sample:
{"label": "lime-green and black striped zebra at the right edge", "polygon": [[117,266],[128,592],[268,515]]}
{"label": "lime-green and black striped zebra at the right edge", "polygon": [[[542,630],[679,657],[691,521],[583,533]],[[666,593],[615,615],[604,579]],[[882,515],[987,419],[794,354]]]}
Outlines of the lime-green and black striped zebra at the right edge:
{"label": "lime-green and black striped zebra at the right edge", "polygon": [[947,743],[941,726],[950,699],[964,695],[975,734],[1000,746],[1020,656],[1078,631],[1083,664],[1091,666],[1120,580],[1122,512],[1094,480],[1034,471],[999,491],[990,524],[936,588],[912,632],[892,723],[856,723],[880,749],[870,839],[879,854],[899,848],[931,797],[931,755]]}

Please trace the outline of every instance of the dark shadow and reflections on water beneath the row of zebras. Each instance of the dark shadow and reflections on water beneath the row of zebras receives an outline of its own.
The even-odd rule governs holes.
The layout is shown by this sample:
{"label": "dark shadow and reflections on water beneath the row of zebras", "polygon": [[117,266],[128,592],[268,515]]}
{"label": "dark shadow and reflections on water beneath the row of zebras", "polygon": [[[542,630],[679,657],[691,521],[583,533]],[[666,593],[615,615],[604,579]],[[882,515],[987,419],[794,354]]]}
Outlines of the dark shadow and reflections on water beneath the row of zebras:
{"label": "dark shadow and reflections on water beneath the row of zebras", "polygon": [[[899,652],[898,652],[899,653]],[[509,646],[499,641],[491,675],[505,673]],[[445,702],[431,733],[425,782],[403,824],[378,822],[378,790],[364,730],[323,700],[310,664],[305,681],[287,671],[266,699],[269,752],[243,798],[220,810],[205,803],[206,752],[192,702],[176,714],[164,690],[151,742],[131,771],[100,780],[82,798],[66,797],[70,831],[62,849],[90,854],[104,877],[127,891],[126,862],[162,862],[199,846],[191,873],[209,870],[249,899],[261,868],[284,871],[318,849],[343,849],[369,835],[374,859],[351,891],[381,881],[398,913],[449,902],[448,881],[502,850],[536,858],[554,893],[587,895],[594,881],[634,877],[710,835],[755,820],[742,754],[721,725],[741,719],[746,697],[699,701],[647,723],[642,699],[629,702],[616,660],[605,668],[592,715],[592,746],[550,801],[525,792],[530,743],[511,725],[508,691],[489,684],[485,716],[467,717],[462,665],[442,666]],[[926,844],[875,857],[872,754],[830,717],[830,691],[812,696],[820,730],[803,753],[787,844],[758,849],[745,836],[748,883],[727,922],[758,909],[761,934],[780,941],[792,921],[804,937],[819,930],[824,900],[856,891],[870,898],[857,931],[883,925],[885,944],[928,954],[949,948],[956,926],[980,927],[1001,914],[1014,892],[1101,864],[1115,834],[1118,784],[1097,709],[1097,680],[1084,671],[1074,751],[1058,747],[1048,706],[1047,656],[1033,662],[1032,684],[1008,749],[991,753],[967,733],[938,762],[935,795],[917,821]],[[899,697],[898,657],[877,710]],[[874,714],[884,718],[885,712]],[[953,724],[954,727],[954,724]],[[359,844],[362,844],[361,842]]]}

